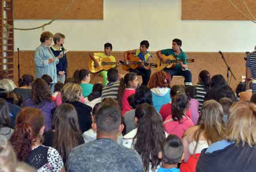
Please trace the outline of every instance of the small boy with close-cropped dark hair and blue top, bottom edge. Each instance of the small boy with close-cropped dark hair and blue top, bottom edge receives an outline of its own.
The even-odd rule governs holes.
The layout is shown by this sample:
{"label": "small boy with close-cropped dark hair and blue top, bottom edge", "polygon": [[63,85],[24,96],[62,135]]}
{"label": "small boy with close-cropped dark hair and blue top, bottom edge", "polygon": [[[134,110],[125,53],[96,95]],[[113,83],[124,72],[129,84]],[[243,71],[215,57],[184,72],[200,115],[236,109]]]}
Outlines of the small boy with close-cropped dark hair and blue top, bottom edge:
{"label": "small boy with close-cropped dark hair and blue top, bottom edge", "polygon": [[169,135],[159,152],[162,161],[161,168],[157,172],[179,172],[178,163],[184,159],[181,139],[176,135]]}

